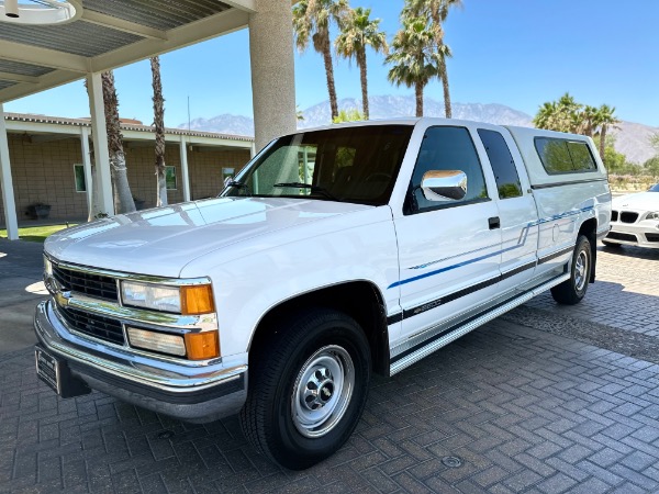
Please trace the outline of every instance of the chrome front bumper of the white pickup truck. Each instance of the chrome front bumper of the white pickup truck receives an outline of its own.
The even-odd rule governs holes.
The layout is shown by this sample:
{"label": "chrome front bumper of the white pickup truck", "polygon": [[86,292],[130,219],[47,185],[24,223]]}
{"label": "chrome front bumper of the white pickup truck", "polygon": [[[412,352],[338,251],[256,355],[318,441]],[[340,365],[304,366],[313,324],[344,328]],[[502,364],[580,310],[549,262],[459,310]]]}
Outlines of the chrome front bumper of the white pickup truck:
{"label": "chrome front bumper of the white pickup truck", "polygon": [[136,353],[69,330],[52,301],[36,307],[40,345],[66,361],[90,388],[188,422],[211,422],[237,413],[247,396],[247,366],[223,359],[181,362]]}

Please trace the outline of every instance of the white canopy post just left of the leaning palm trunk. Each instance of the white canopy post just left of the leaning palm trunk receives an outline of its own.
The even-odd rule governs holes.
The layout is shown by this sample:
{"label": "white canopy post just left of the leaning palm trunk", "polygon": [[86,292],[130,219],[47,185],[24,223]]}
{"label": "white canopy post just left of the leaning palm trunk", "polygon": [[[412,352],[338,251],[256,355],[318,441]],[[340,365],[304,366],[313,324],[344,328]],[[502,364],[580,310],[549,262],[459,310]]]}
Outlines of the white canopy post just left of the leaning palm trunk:
{"label": "white canopy post just left of the leaning palm trunk", "polygon": [[103,88],[100,74],[87,75],[89,111],[91,113],[91,136],[93,138],[93,160],[97,170],[98,205],[102,213],[114,214],[112,199],[112,177],[110,175],[110,151],[108,150],[108,128],[103,106]]}

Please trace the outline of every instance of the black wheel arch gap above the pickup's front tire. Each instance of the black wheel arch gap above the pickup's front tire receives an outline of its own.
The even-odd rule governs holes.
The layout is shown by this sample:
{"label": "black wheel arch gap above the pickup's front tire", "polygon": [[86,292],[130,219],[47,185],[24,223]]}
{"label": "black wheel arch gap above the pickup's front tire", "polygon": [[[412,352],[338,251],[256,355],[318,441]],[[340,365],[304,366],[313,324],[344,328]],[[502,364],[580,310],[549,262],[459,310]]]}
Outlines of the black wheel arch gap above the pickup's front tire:
{"label": "black wheel arch gap above the pickup's front tire", "polygon": [[320,288],[291,296],[270,307],[261,316],[252,335],[248,346],[249,360],[258,358],[258,355],[267,349],[268,339],[272,335],[272,323],[308,307],[334,308],[357,321],[368,338],[372,371],[389,375],[387,306],[378,287],[366,280]]}

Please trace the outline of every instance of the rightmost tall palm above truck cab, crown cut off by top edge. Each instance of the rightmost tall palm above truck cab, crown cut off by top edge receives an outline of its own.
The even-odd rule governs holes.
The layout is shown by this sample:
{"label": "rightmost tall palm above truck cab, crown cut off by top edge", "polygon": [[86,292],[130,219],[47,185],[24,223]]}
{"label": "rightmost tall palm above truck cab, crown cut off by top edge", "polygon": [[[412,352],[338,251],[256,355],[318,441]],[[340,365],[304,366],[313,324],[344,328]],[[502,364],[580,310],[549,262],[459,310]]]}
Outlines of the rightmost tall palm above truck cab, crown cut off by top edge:
{"label": "rightmost tall palm above truck cab, crown cut off by top edge", "polygon": [[431,30],[434,34],[435,46],[437,48],[437,70],[442,79],[444,89],[444,113],[447,119],[453,116],[450,104],[450,91],[448,87],[448,70],[446,68],[446,58],[450,50],[444,44],[444,22],[448,16],[451,7],[461,7],[461,0],[406,0],[403,9],[404,16],[424,16],[432,20]]}

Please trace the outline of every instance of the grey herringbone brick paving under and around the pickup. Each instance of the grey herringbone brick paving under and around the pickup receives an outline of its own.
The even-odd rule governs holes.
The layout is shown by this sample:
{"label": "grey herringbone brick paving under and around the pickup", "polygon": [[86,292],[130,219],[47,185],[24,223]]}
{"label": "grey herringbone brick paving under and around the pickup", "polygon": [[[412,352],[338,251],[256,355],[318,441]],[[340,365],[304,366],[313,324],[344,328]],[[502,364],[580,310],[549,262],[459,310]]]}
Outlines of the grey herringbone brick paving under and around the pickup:
{"label": "grey herringbone brick paving under and around the pickup", "polygon": [[[3,251],[1,276],[38,279],[37,251],[32,263]],[[657,273],[659,251],[600,249],[582,304],[541,295],[376,378],[348,444],[302,472],[257,454],[235,417],[191,425],[98,392],[59,400],[32,349],[0,340],[0,492],[658,492]],[[29,317],[43,295],[2,293],[0,338],[31,335],[4,314],[15,302]]]}

